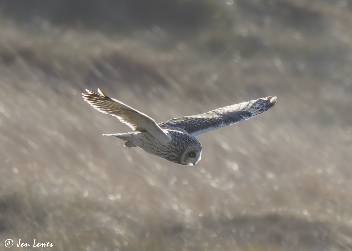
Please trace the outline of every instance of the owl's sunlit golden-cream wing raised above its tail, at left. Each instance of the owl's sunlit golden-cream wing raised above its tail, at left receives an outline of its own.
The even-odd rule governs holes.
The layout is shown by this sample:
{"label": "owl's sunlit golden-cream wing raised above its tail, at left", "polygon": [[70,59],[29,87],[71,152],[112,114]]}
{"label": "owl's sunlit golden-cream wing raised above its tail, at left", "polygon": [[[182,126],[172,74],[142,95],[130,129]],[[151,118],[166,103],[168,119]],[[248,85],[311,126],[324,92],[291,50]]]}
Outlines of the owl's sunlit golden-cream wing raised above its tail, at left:
{"label": "owl's sunlit golden-cream wing raised above its tail, at left", "polygon": [[99,94],[87,89],[86,91],[87,93],[82,93],[84,100],[98,111],[117,117],[134,131],[147,131],[161,143],[171,141],[171,136],[159,127],[151,117],[116,99],[109,98],[100,89],[98,89]]}

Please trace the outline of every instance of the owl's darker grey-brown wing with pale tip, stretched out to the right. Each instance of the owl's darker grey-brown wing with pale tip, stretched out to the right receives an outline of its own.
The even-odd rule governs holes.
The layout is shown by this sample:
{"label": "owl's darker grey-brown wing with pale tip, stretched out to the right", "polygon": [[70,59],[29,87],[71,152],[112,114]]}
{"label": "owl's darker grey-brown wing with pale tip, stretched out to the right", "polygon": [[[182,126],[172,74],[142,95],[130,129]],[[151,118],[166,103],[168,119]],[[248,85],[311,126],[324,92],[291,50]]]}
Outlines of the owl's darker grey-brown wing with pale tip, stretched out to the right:
{"label": "owl's darker grey-brown wing with pale tip, stretched out to the right", "polygon": [[257,116],[275,105],[277,97],[266,97],[233,104],[203,114],[174,118],[160,123],[165,129],[181,129],[192,136],[214,130],[224,126],[230,126],[241,120],[247,120]]}

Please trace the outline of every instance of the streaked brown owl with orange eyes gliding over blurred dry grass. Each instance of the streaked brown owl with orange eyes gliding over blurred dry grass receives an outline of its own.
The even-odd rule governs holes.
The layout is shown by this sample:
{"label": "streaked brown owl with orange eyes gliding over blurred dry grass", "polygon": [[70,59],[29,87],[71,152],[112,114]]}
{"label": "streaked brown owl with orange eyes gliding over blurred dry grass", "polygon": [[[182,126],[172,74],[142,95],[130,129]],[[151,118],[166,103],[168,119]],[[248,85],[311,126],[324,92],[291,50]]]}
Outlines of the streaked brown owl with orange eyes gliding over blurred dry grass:
{"label": "streaked brown owl with orange eyes gliding over blurred dry grass", "polygon": [[138,146],[147,153],[188,166],[194,166],[201,159],[202,145],[194,136],[257,116],[277,101],[277,97],[259,98],[157,124],[142,112],[109,98],[100,89],[99,94],[86,91],[82,93],[85,101],[98,111],[117,117],[134,130],[133,133],[103,135],[126,141],[125,147]]}

